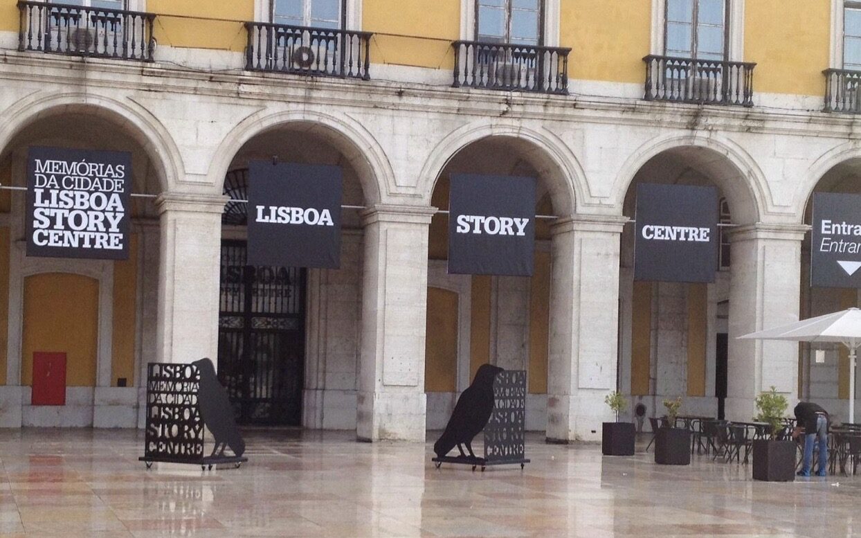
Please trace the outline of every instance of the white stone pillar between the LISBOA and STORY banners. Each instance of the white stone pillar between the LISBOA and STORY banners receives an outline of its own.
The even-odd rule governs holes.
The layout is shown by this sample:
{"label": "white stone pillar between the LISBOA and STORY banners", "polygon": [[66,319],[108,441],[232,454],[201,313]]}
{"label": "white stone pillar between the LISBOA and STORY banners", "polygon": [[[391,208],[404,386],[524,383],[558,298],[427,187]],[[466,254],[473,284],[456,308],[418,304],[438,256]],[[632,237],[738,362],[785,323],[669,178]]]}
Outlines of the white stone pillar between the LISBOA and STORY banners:
{"label": "white stone pillar between the LISBOA and STORY banners", "polygon": [[431,207],[363,214],[362,356],[356,435],[424,442],[424,324]]}

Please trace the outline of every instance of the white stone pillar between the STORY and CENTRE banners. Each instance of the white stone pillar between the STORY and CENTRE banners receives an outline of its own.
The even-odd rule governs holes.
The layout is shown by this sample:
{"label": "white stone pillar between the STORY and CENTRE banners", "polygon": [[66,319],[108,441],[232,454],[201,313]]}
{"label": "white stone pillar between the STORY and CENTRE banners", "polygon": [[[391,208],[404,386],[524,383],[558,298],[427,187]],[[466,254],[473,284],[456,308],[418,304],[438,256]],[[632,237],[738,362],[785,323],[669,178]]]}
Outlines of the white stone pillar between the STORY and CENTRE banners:
{"label": "white stone pillar between the STORY and CENTRE banners", "polygon": [[547,438],[598,441],[614,419],[619,245],[625,220],[579,215],[553,226]]}

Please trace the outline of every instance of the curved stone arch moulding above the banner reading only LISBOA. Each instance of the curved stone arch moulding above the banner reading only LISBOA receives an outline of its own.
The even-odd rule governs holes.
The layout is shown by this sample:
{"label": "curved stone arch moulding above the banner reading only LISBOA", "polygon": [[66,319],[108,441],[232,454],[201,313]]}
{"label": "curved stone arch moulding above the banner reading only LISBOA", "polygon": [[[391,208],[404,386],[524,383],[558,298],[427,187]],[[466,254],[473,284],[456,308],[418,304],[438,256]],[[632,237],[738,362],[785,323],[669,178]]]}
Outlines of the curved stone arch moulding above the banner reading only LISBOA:
{"label": "curved stone arch moulding above the banner reading only LISBOA", "polygon": [[362,191],[368,205],[382,201],[382,195],[394,187],[394,171],[386,153],[374,136],[358,122],[347,117],[312,112],[289,110],[276,114],[261,111],[251,114],[233,127],[215,151],[209,166],[210,182],[221,194],[224,177],[233,157],[246,142],[276,127],[294,124],[321,134],[344,154],[352,164],[362,183]]}

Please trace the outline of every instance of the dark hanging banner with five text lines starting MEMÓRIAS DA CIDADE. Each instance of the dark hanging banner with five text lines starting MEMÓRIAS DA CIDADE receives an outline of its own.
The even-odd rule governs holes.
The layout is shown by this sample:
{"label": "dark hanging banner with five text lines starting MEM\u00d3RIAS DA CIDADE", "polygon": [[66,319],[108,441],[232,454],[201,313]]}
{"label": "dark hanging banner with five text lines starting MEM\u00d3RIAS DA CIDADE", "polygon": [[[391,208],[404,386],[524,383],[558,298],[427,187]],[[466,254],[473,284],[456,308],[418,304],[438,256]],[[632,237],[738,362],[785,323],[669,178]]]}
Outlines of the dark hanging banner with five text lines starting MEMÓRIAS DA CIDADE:
{"label": "dark hanging banner with five text lines starting MEM\u00d3RIAS DA CIDADE", "polygon": [[27,256],[128,258],[132,154],[31,147]]}

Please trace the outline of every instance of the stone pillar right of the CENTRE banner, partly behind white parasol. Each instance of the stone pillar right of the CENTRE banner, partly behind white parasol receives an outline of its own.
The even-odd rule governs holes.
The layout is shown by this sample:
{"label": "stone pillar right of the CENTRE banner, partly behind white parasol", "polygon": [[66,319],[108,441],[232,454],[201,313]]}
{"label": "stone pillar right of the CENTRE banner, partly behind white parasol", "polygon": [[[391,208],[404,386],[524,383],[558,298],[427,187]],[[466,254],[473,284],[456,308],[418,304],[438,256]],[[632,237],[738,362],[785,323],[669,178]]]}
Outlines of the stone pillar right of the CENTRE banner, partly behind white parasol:
{"label": "stone pillar right of the CENTRE banner, partly behind white parasol", "polygon": [[798,386],[798,343],[739,340],[798,319],[802,239],[806,226],[757,224],[731,235],[726,417],[750,420],[753,400],[776,386],[792,402]]}

